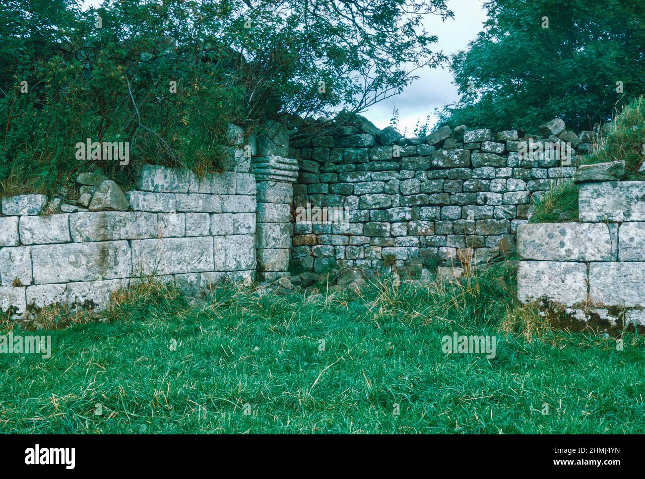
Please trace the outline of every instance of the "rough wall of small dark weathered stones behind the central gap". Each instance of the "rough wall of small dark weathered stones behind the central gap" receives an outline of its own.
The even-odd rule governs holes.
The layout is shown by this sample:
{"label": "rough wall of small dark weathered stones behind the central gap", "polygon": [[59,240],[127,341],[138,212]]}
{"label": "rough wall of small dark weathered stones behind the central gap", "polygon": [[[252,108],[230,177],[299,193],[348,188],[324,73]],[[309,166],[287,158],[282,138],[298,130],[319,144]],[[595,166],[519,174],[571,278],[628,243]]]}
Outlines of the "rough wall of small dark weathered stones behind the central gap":
{"label": "rough wall of small dark weathered stones behind the central gap", "polygon": [[[464,248],[494,256],[527,222],[531,202],[573,176],[577,154],[591,152],[595,139],[593,132],[566,131],[561,120],[540,133],[459,126],[403,138],[360,116],[343,126],[328,121],[315,134],[294,128],[290,156],[300,162],[294,207],[346,207],[350,222],[295,222],[292,271],[333,263],[381,268],[384,260],[441,264]],[[544,152],[519,154],[529,142],[568,144],[571,156],[563,164]]]}

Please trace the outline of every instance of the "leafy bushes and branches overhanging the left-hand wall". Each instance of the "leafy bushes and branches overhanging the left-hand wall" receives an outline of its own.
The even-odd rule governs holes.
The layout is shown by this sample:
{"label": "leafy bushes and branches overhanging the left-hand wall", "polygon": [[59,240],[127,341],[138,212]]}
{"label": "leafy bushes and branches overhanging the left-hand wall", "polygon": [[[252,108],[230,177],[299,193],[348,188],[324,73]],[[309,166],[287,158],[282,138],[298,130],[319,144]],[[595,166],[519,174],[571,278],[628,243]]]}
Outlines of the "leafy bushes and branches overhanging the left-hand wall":
{"label": "leafy bushes and branches overhanging the left-hand wall", "polygon": [[[424,15],[452,16],[445,0],[80,3],[0,5],[0,193],[54,191],[90,170],[127,182],[142,162],[217,170],[228,123],[361,110],[401,91],[444,60]],[[130,164],[75,159],[86,138],[129,142]]]}

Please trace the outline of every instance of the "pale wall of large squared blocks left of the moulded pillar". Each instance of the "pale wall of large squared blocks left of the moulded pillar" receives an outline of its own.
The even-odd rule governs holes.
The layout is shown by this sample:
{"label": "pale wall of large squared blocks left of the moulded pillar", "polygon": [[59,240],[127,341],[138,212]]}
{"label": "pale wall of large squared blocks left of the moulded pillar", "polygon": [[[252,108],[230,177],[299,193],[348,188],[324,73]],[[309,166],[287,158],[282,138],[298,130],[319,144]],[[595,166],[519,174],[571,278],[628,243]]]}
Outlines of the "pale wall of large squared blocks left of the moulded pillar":
{"label": "pale wall of large squared blocks left of the moulded pillar", "polygon": [[104,179],[90,210],[66,205],[75,212],[43,215],[43,195],[3,198],[0,311],[21,318],[51,304],[103,308],[113,291],[149,276],[193,295],[222,279],[252,278],[256,184],[244,162],[201,179],[146,165],[138,189],[115,202],[128,211],[91,211],[104,183],[123,195]]}

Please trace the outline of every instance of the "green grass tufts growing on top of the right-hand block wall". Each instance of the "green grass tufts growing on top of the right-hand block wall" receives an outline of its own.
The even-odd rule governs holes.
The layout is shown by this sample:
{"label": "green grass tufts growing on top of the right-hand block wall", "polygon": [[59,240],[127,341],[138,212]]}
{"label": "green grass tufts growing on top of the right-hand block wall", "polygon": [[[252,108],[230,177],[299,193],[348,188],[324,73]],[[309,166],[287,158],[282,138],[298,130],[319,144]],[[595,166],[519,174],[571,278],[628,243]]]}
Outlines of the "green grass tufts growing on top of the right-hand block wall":
{"label": "green grass tufts growing on top of the right-hand block wall", "polygon": [[[645,97],[631,101],[615,117],[613,128],[595,145],[593,155],[580,157],[579,164],[623,160],[628,181],[645,181],[639,168],[645,161]],[[531,223],[553,223],[578,220],[578,186],[558,182],[535,202]]]}

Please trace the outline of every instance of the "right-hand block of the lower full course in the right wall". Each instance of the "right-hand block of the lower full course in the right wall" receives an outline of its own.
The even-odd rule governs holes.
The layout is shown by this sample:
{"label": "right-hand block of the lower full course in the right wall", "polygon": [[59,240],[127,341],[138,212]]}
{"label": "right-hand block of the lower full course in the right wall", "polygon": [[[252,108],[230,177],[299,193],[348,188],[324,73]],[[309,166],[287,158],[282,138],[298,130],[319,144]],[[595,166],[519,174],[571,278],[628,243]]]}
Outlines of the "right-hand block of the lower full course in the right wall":
{"label": "right-hand block of the lower full course in the right wall", "polygon": [[605,306],[645,306],[645,262],[591,263],[589,296]]}

